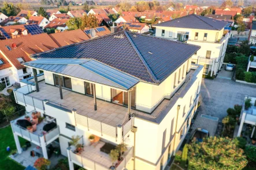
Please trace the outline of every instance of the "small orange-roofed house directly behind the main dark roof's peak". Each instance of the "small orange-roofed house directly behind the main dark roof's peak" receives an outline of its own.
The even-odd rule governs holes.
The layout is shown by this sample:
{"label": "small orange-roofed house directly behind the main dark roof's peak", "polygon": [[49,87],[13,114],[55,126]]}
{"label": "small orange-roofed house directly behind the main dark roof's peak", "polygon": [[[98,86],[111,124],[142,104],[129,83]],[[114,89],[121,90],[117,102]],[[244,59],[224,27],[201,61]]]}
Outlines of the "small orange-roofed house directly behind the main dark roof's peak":
{"label": "small orange-roofed house directly behind the main dark roof's peak", "polygon": [[138,22],[121,22],[121,29],[129,30],[131,32],[144,33],[149,32],[149,25],[146,23],[138,23]]}

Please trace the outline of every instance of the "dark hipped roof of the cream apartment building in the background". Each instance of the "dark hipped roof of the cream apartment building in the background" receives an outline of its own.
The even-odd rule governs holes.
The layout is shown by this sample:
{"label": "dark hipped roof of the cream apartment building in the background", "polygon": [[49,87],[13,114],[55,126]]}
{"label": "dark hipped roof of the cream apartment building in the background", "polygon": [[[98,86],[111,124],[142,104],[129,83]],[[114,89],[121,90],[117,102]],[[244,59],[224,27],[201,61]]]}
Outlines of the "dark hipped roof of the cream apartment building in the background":
{"label": "dark hipped roof of the cream apartment building in the background", "polygon": [[160,24],[156,24],[155,26],[221,30],[225,27],[225,25],[227,25],[226,22],[214,20],[212,18],[207,18],[203,16],[197,16],[196,14],[191,14],[188,16],[176,18],[175,20],[162,22]]}

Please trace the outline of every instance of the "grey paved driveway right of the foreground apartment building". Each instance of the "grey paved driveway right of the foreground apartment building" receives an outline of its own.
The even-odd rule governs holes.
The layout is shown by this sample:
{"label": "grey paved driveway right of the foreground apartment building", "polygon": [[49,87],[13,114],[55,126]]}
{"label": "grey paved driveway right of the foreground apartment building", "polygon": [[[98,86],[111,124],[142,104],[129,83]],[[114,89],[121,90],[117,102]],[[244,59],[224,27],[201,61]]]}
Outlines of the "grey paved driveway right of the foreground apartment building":
{"label": "grey paved driveway right of the foreground apartment building", "polygon": [[203,78],[199,96],[201,106],[198,108],[195,123],[192,124],[192,131],[201,127],[208,130],[210,135],[214,135],[218,122],[227,116],[227,109],[235,104],[242,104],[245,95],[256,96],[256,86],[241,84],[225,78],[215,78],[214,80]]}

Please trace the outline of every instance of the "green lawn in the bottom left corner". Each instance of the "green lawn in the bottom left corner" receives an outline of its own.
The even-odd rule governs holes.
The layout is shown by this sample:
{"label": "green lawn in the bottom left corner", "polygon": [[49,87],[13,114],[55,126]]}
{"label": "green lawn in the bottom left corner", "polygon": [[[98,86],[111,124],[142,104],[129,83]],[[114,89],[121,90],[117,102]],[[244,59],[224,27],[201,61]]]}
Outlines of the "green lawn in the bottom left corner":
{"label": "green lawn in the bottom left corner", "polygon": [[[8,126],[3,129],[0,129],[0,170],[24,170],[25,167],[16,163],[11,158],[9,158],[9,152],[6,151],[6,148],[10,146],[10,149],[16,149],[15,141],[13,138],[12,127]],[[20,145],[25,144],[25,139],[20,138]]]}

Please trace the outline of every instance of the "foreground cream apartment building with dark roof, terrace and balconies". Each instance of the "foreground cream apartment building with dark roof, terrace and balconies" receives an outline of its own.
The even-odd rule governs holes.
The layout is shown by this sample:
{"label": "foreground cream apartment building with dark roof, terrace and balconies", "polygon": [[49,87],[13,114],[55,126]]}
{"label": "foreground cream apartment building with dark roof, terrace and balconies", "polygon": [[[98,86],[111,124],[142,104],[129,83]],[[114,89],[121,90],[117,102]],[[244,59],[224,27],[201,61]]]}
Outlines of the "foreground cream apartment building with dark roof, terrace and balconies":
{"label": "foreground cream apartment building with dark roof, terrace and balconies", "polygon": [[[180,148],[198,105],[203,66],[191,65],[199,46],[117,32],[32,55],[23,63],[36,74],[14,90],[27,115],[45,117],[34,132],[11,122],[18,137],[40,146],[58,141],[69,169],[109,169],[107,148],[126,143],[116,169],[164,169]],[[55,126],[43,131],[45,124]],[[79,135],[81,153],[70,146]],[[89,137],[94,135],[94,141]],[[107,147],[106,147],[107,146]]]}

